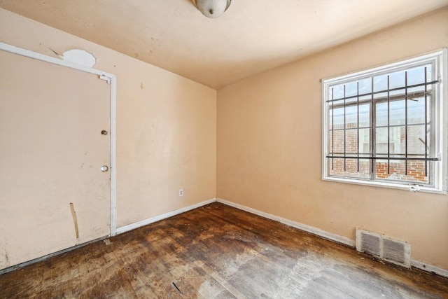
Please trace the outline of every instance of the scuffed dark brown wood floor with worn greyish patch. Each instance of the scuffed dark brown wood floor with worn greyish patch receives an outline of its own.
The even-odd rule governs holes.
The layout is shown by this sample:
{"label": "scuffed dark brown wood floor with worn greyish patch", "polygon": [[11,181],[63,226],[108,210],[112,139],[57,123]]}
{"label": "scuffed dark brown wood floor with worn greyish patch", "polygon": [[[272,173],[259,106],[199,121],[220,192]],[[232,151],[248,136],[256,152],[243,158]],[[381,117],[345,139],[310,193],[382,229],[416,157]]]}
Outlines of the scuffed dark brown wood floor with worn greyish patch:
{"label": "scuffed dark brown wood floor with worn greyish patch", "polygon": [[214,203],[0,276],[0,298],[448,298],[448,279]]}

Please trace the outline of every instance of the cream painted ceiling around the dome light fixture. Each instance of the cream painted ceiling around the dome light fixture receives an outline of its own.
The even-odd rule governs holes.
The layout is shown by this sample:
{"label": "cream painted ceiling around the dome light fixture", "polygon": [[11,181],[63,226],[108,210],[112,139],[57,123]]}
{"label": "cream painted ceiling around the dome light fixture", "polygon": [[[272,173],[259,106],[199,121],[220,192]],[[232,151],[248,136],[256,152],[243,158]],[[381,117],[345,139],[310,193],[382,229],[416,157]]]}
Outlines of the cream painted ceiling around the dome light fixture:
{"label": "cream painted ceiling around the dome light fixture", "polygon": [[211,88],[448,6],[448,0],[0,0],[50,25]]}

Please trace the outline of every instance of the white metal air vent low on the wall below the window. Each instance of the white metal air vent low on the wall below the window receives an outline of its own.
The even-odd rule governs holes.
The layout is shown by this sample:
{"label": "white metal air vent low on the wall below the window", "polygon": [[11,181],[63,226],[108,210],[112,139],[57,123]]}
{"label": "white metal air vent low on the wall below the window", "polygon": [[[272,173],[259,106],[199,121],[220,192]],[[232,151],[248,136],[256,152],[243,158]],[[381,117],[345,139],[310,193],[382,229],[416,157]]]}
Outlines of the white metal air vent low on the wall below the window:
{"label": "white metal air vent low on the wall below the window", "polygon": [[403,267],[411,267],[411,245],[385,235],[356,228],[356,250]]}

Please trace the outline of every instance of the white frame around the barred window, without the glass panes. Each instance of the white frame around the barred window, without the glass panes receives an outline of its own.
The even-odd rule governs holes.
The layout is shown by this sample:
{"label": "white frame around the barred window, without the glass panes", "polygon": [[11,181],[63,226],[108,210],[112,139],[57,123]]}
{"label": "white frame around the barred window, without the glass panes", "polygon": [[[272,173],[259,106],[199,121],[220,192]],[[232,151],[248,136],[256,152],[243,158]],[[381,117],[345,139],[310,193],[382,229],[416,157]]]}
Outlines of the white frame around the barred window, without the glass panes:
{"label": "white frame around the barred window, without the glass panes", "polygon": [[[433,186],[419,185],[415,182],[387,182],[380,179],[358,179],[358,178],[348,178],[344,176],[330,176],[328,167],[328,155],[329,146],[328,140],[330,138],[329,134],[329,103],[327,102],[330,96],[330,86],[348,83],[351,81],[359,80],[360,78],[365,78],[366,76],[374,76],[378,74],[384,74],[387,72],[398,71],[399,69],[409,69],[416,64],[421,64],[423,62],[434,62],[435,78],[440,81],[434,85],[435,92],[437,94],[437,99],[434,101],[434,105],[431,109],[431,113],[434,116],[434,123],[437,124],[434,132],[434,139],[431,142],[431,147],[434,148],[433,152],[437,153],[440,162],[435,162],[433,172]],[[333,181],[339,183],[353,183],[358,185],[375,186],[375,187],[385,187],[385,188],[395,188],[401,190],[411,190],[411,191],[422,191],[429,193],[440,193],[447,194],[447,158],[448,158],[448,84],[445,82],[448,78],[447,70],[447,48],[442,50],[437,50],[433,53],[428,53],[425,55],[419,55],[414,58],[407,60],[400,60],[391,64],[384,64],[379,67],[373,67],[371,69],[365,69],[363,71],[356,71],[350,74],[345,74],[342,76],[335,76],[332,78],[326,78],[322,80],[322,180],[323,181]],[[372,140],[372,137],[370,137]],[[359,145],[358,145],[359,146]],[[379,159],[377,159],[379,160]]]}

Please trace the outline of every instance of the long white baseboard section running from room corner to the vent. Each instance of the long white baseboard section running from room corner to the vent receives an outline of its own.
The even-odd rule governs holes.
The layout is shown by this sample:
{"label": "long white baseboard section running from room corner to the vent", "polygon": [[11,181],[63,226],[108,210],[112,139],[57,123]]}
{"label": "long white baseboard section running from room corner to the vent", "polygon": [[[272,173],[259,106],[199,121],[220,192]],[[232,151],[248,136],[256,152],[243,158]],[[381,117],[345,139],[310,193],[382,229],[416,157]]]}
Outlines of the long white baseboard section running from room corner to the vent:
{"label": "long white baseboard section running from room corner to the vent", "polygon": [[351,246],[351,247],[355,246],[355,240],[349,239],[347,237],[342,237],[342,236],[339,236],[339,235],[335,235],[335,234],[333,234],[331,232],[325,232],[325,230],[321,230],[321,229],[314,228],[314,227],[309,226],[309,225],[305,225],[305,224],[302,224],[302,223],[291,221],[291,220],[286,219],[286,218],[282,218],[282,217],[279,217],[279,216],[268,214],[268,213],[265,213],[264,211],[258,211],[256,209],[252,209],[250,207],[243,206],[241,204],[235,204],[235,202],[229,202],[228,200],[223,200],[222,198],[216,198],[216,201],[217,202],[222,202],[223,204],[227,204],[230,207],[235,207],[237,209],[241,209],[243,211],[248,211],[249,213],[252,213],[252,214],[255,214],[255,215],[258,215],[258,216],[262,216],[262,217],[271,219],[273,221],[277,221],[279,223],[286,224],[286,225],[291,226],[293,228],[298,228],[299,230],[304,230],[305,232],[309,232],[309,233],[311,233],[313,235],[317,235],[318,237],[323,237],[324,239],[329,239],[331,241],[334,241],[334,242],[337,242],[337,243],[341,243],[341,244],[344,244],[344,245],[347,245],[347,246]]}

